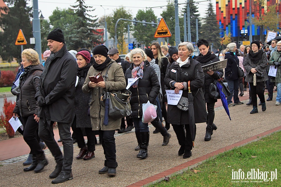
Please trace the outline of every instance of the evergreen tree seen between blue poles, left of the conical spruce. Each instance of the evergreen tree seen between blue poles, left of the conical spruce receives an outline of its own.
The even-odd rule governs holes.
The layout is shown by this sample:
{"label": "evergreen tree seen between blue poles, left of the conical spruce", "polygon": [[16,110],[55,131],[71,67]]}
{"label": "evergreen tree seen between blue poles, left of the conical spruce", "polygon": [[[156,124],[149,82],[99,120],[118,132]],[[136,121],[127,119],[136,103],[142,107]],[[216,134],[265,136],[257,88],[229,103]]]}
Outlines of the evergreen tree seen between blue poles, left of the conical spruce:
{"label": "evergreen tree seen between blue poles, left of the conical spruce", "polygon": [[[186,1],[187,2],[187,1]],[[196,19],[198,19],[198,36],[200,38],[201,32],[201,22],[200,22],[200,14],[198,13],[198,7],[195,5],[194,0],[189,0],[189,10],[190,10],[190,32],[191,32],[191,41],[196,41]],[[185,8],[182,10],[182,13],[186,13],[187,16],[187,4]],[[183,16],[182,14],[182,16]],[[187,18],[186,18],[186,27],[187,27]],[[186,33],[188,34],[188,28],[186,28]],[[197,41],[196,41],[197,42]],[[196,43],[195,42],[195,43]]]}

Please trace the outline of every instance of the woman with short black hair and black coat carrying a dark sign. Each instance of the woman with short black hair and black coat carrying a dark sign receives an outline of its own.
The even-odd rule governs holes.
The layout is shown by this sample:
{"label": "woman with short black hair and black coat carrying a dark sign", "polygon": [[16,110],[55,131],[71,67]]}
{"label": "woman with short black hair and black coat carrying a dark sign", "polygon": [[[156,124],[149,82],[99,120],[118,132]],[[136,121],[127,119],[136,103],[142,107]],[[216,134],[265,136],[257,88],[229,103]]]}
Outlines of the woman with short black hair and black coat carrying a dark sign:
{"label": "woman with short black hair and black coat carrying a dark sign", "polygon": [[[200,51],[200,54],[197,56],[196,60],[201,63],[201,66],[208,65],[213,62],[219,61],[219,58],[217,55],[212,54],[209,51],[209,42],[204,39],[200,39],[197,41],[197,47]],[[207,127],[206,127],[206,135],[205,135],[205,141],[211,140],[211,135],[213,134],[213,130],[217,130],[216,125],[214,122],[214,104],[218,101],[217,99],[210,98],[209,97],[209,87],[210,84],[214,82],[214,79],[219,79],[224,75],[223,70],[219,71],[208,71],[204,74],[205,81],[204,86],[202,87],[205,101],[207,103],[207,110],[208,110],[208,121],[207,121]]]}

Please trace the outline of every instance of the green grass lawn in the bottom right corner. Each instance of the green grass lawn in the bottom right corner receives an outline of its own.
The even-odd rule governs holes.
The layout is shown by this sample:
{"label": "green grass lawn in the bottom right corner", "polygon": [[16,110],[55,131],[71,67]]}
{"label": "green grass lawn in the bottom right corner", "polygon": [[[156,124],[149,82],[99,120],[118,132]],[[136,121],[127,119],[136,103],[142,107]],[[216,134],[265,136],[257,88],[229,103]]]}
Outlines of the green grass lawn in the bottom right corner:
{"label": "green grass lawn in the bottom right corner", "polygon": [[[254,171],[257,172],[258,169],[259,179],[255,179]],[[215,159],[209,160],[192,170],[187,170],[182,175],[170,177],[169,182],[161,181],[151,186],[280,187],[280,171],[281,131],[246,146],[222,153]],[[243,174],[244,179],[242,179]],[[274,174],[277,176],[274,176]],[[240,179],[238,179],[238,175]]]}

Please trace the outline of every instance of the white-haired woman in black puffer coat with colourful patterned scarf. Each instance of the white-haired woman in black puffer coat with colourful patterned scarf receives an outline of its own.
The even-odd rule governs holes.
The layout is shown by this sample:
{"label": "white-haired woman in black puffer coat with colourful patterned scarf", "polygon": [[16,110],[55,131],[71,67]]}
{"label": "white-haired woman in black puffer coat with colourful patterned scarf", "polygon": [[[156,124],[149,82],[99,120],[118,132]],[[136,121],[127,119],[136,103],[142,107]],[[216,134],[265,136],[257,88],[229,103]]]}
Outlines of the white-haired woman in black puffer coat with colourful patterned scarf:
{"label": "white-haired woman in black puffer coat with colourful patterned scarf", "polygon": [[160,84],[157,74],[149,62],[146,61],[146,55],[140,48],[131,51],[131,59],[133,63],[130,68],[126,70],[126,82],[128,79],[139,78],[129,90],[131,94],[131,109],[134,126],[136,129],[136,138],[140,142],[141,150],[137,155],[138,158],[147,158],[147,147],[149,144],[149,128],[148,123],[142,122],[142,104],[150,103],[156,104],[156,97],[160,90]]}

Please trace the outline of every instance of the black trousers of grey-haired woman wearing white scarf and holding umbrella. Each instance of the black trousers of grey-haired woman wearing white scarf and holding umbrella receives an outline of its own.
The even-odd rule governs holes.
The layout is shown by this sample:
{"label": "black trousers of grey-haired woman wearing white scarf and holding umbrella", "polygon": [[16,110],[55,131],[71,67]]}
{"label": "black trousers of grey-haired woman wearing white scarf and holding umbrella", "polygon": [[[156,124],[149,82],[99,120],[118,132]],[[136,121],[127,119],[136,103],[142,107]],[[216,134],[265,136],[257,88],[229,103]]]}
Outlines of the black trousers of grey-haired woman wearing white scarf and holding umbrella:
{"label": "black trousers of grey-haired woman wearing white scarf and holding umbrella", "polygon": [[[185,146],[185,150],[192,150],[193,142],[190,135],[189,124],[185,125],[173,125],[173,129],[177,135],[179,144]],[[195,134],[196,134],[196,125],[195,125]]]}

